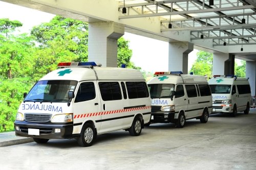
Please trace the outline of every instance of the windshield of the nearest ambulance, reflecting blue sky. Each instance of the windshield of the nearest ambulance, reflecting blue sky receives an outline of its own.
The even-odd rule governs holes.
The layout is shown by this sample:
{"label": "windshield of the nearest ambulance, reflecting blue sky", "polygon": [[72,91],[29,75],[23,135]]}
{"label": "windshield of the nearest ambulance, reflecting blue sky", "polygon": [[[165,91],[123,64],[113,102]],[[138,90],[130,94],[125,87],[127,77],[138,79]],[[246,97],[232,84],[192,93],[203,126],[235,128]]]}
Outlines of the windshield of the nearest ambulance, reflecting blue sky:
{"label": "windshield of the nearest ambulance, reflecting blue sky", "polygon": [[72,80],[38,81],[24,102],[68,102],[68,92],[74,91],[76,85],[77,81]]}

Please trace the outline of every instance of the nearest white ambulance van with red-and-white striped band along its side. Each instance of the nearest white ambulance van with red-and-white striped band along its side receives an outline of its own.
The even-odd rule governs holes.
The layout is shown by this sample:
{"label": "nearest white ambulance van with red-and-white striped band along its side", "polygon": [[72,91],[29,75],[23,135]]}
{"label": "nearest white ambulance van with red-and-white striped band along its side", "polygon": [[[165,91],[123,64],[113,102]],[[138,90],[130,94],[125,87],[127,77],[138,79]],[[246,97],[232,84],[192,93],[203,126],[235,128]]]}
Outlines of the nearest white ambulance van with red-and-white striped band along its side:
{"label": "nearest white ambulance van with red-and-white striped band along its side", "polygon": [[37,143],[76,138],[88,147],[97,134],[123,129],[138,136],[150,121],[151,98],[139,70],[94,62],[58,67],[25,93],[14,123],[17,136]]}

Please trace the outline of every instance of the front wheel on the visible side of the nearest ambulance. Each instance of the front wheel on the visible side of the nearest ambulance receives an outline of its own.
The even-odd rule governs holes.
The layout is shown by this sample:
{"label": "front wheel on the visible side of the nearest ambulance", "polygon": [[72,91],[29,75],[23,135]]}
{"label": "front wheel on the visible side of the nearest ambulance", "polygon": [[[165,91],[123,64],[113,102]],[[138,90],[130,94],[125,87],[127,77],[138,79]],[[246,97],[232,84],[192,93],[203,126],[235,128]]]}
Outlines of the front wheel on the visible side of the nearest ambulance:
{"label": "front wheel on the visible side of the nearest ambulance", "polygon": [[92,124],[84,124],[77,142],[81,147],[90,147],[96,138],[95,129]]}

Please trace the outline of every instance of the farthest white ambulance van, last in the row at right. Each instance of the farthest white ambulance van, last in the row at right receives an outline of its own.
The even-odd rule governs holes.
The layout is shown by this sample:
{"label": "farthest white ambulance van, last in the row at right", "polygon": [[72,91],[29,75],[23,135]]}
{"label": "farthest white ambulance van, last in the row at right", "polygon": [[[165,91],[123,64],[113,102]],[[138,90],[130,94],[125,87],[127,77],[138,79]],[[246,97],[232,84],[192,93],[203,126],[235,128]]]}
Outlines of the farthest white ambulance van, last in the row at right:
{"label": "farthest white ambulance van, last in the row at right", "polygon": [[212,93],[213,112],[230,113],[232,116],[241,111],[249,113],[251,89],[248,79],[215,75],[208,83]]}

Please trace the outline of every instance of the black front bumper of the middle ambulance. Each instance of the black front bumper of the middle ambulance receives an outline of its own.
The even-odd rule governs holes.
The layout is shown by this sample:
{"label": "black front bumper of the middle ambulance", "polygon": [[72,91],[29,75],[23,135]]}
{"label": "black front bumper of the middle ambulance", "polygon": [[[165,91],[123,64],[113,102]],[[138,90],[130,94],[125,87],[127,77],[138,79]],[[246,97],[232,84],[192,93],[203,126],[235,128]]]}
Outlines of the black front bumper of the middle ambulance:
{"label": "black front bumper of the middle ambulance", "polygon": [[177,119],[175,117],[175,112],[152,112],[151,113],[151,123],[175,123]]}

